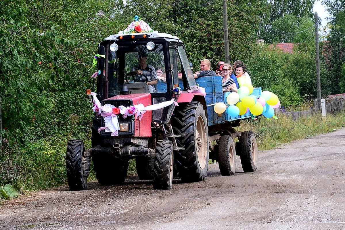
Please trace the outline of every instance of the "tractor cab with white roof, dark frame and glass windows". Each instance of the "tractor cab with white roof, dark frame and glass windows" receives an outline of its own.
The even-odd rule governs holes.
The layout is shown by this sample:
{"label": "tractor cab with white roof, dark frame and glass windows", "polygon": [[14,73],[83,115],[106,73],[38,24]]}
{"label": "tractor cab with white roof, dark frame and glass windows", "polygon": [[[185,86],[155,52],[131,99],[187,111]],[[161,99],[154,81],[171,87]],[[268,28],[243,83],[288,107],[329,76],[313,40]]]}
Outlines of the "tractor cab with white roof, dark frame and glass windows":
{"label": "tractor cab with white roof, dark frame and glass windows", "polygon": [[[98,60],[96,92],[100,100],[150,93],[155,104],[171,100],[175,88],[197,89],[184,44],[170,34],[114,34],[99,44],[98,54],[104,56]],[[156,69],[162,76],[157,76]]]}

